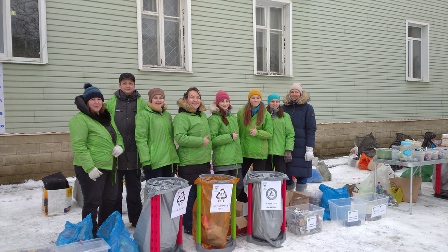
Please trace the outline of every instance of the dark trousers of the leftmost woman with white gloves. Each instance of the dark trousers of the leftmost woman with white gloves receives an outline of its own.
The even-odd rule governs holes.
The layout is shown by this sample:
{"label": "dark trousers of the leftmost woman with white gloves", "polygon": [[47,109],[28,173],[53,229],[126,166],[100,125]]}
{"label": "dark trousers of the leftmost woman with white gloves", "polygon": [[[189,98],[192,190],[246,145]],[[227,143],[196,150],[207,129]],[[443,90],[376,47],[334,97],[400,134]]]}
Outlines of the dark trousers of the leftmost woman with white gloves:
{"label": "dark trousers of the leftmost woman with white gloves", "polygon": [[[97,229],[113,213],[118,186],[115,183],[115,171],[98,169],[103,174],[93,181],[81,166],[75,165],[75,175],[83,192],[83,210],[81,218],[92,214],[92,232]],[[98,215],[98,223],[97,223]]]}

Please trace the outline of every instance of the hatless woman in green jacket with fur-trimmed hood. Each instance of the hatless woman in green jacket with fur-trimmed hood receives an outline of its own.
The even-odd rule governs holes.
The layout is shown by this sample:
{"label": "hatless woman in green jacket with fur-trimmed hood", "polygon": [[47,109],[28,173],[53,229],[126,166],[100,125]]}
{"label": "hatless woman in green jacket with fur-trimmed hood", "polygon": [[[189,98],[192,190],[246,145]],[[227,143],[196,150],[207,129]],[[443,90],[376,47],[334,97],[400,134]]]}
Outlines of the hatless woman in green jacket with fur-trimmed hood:
{"label": "hatless woman in green jacket with fur-trimmed hood", "polygon": [[206,108],[197,88],[189,88],[177,104],[179,114],[174,117],[174,139],[179,145],[178,174],[192,185],[182,222],[184,232],[192,234],[193,203],[196,199],[194,183],[199,175],[210,173],[210,129],[204,113]]}

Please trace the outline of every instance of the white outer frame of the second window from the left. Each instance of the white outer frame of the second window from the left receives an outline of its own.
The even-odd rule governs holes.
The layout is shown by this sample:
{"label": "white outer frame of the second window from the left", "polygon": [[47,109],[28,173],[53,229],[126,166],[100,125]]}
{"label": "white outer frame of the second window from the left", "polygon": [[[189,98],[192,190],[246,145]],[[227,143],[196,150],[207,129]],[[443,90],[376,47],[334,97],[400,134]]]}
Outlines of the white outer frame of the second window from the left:
{"label": "white outer frame of the second window from the left", "polygon": [[[159,0],[158,0],[159,1]],[[192,65],[192,44],[191,44],[191,0],[182,0],[182,11],[181,11],[181,40],[183,41],[183,66],[172,67],[172,66],[144,66],[143,65],[143,41],[142,41],[142,31],[141,31],[141,15],[143,12],[143,0],[137,0],[137,37],[138,37],[138,69],[141,71],[162,71],[162,72],[193,72]],[[163,48],[162,37],[159,36],[159,50]]]}

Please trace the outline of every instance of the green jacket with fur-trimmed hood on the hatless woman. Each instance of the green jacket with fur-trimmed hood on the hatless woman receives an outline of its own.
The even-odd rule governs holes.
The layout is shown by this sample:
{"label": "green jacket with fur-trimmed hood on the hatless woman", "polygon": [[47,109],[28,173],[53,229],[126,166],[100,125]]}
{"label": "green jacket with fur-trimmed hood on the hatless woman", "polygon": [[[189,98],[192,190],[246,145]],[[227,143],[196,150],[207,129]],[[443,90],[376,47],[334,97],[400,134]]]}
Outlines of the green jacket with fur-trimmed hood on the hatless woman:
{"label": "green jacket with fur-trimmed hood on the hatless woman", "polygon": [[210,135],[204,104],[201,102],[197,111],[183,98],[177,104],[179,114],[174,117],[174,139],[179,145],[179,166],[210,162],[212,143],[204,147],[204,137]]}

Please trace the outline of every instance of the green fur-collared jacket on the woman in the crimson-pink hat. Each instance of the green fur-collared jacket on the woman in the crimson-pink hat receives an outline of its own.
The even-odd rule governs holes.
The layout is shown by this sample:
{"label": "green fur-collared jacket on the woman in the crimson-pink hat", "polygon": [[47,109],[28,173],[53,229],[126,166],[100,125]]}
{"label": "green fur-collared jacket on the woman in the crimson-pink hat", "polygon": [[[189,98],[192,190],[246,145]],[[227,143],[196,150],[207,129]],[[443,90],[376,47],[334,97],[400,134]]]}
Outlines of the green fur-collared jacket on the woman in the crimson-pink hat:
{"label": "green fur-collared jacket on the woman in the crimson-pink hat", "polygon": [[[212,115],[208,118],[210,128],[210,140],[212,143],[213,167],[242,163],[241,144],[239,136],[233,141],[231,134],[238,131],[238,121],[234,114],[227,116],[228,125],[221,120],[220,109],[215,102],[209,106]],[[232,107],[229,108],[230,110]],[[235,165],[235,169],[237,166]],[[215,168],[214,168],[215,169]],[[219,171],[219,169],[218,169]]]}

